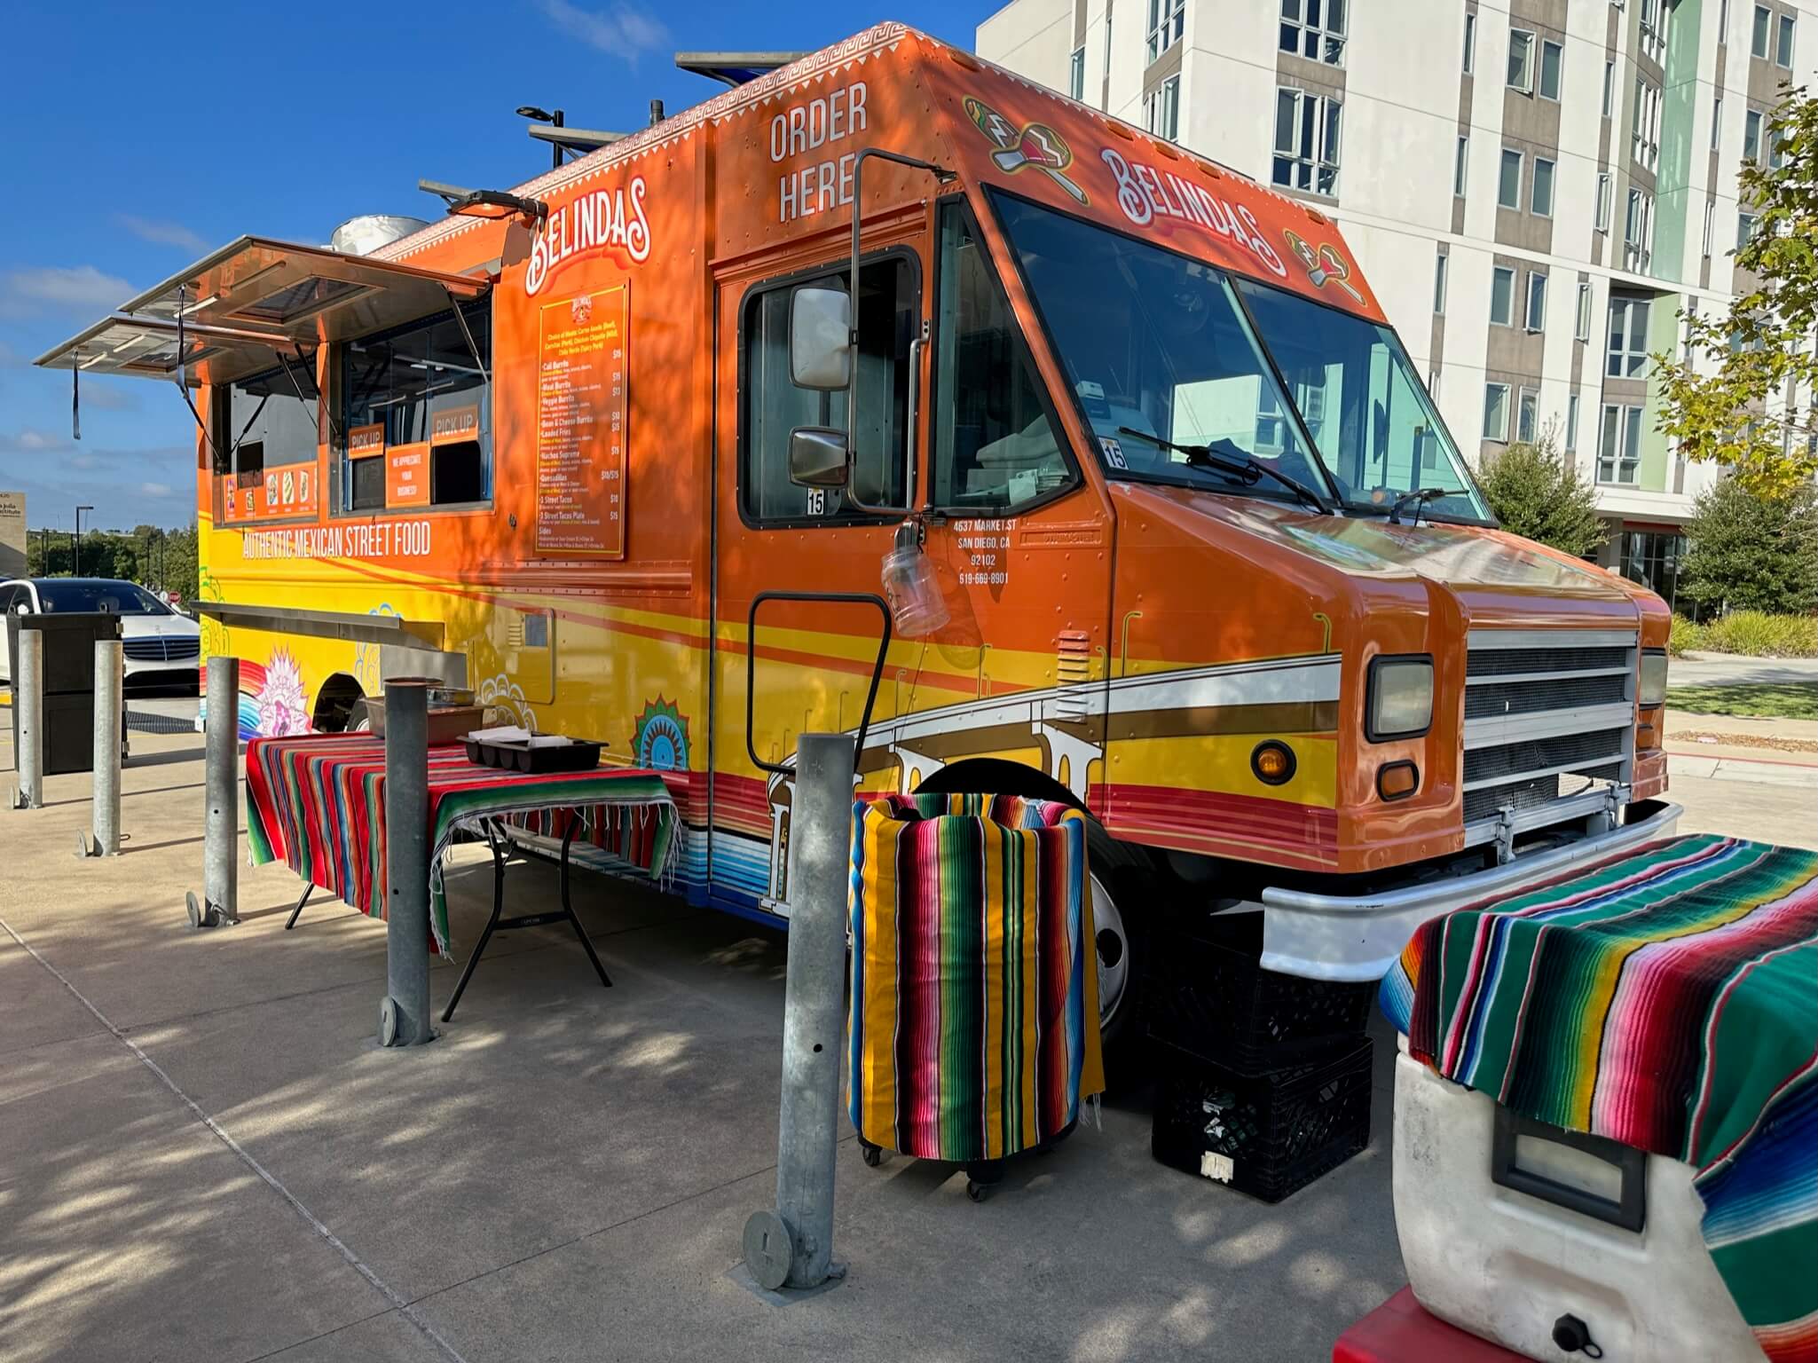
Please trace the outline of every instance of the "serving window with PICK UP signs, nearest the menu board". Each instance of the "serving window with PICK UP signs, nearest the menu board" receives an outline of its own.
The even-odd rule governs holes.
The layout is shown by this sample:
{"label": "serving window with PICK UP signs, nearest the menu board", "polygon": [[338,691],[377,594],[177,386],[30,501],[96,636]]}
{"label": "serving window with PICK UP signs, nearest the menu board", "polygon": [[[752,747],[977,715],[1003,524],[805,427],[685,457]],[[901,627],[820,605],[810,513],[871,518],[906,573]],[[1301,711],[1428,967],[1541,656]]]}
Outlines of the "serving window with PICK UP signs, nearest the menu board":
{"label": "serving window with PICK UP signs, nearest the menu board", "polygon": [[342,509],[491,500],[489,298],[349,342],[342,354]]}

